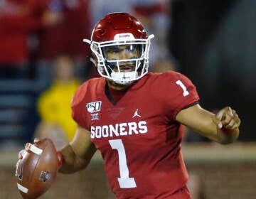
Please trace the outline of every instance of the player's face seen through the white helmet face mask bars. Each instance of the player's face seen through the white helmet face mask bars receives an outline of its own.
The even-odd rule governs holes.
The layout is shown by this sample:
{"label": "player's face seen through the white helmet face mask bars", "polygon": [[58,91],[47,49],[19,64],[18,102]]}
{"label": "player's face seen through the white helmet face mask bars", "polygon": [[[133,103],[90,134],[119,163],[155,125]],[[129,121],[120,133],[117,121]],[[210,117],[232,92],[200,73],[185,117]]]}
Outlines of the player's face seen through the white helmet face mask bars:
{"label": "player's face seen through the white helmet face mask bars", "polygon": [[[103,48],[105,58],[108,61],[114,60],[126,60],[119,61],[119,72],[130,72],[135,69],[135,61],[129,59],[136,59],[141,56],[142,50],[140,45],[112,45]],[[114,72],[118,72],[117,65],[112,68]]]}

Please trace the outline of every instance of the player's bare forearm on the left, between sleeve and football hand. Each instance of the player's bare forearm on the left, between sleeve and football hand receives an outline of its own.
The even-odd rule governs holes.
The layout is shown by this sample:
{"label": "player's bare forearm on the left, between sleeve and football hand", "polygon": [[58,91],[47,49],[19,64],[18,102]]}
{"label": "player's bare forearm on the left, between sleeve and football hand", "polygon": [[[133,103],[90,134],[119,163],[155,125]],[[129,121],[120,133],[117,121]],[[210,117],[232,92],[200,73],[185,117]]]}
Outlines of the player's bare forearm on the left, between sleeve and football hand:
{"label": "player's bare forearm on the left, between sleeve and football hand", "polygon": [[95,151],[95,145],[90,140],[90,131],[78,127],[73,141],[60,150],[63,161],[59,172],[74,173],[85,168]]}

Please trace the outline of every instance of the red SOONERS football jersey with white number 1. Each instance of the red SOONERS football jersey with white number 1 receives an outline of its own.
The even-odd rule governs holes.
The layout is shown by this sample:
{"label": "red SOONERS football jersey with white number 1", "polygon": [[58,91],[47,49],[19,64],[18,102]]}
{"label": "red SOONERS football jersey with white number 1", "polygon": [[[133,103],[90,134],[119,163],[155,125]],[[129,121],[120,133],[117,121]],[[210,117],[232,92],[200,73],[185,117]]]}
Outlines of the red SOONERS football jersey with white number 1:
{"label": "red SOONERS football jersey with white number 1", "polygon": [[171,198],[186,185],[181,124],[176,114],[198,102],[196,87],[178,72],[148,73],[116,104],[105,78],[75,93],[73,118],[91,131],[116,198]]}

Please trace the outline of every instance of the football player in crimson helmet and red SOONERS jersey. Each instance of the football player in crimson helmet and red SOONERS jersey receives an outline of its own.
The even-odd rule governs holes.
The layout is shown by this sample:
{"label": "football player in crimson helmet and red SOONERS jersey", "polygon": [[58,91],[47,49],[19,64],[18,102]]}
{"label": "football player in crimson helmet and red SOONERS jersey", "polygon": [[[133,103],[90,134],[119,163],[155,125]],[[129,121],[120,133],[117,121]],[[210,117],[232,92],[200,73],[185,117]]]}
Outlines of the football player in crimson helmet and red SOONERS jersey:
{"label": "football player in crimson helmet and red SOONERS jersey", "polygon": [[181,73],[148,72],[152,38],[137,18],[112,13],[84,40],[102,77],[87,80],[73,97],[78,129],[59,153],[59,171],[86,168],[100,150],[116,198],[187,199],[181,124],[230,144],[238,138],[240,119],[230,107],[217,114],[203,109],[196,87]]}

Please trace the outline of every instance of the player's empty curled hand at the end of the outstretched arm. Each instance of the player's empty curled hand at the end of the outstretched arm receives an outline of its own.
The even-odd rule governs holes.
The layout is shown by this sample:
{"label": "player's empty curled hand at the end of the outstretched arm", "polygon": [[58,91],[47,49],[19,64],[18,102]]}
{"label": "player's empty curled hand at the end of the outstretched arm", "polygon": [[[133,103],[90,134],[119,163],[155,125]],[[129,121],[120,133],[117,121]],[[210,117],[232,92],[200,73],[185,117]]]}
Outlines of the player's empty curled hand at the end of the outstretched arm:
{"label": "player's empty curled hand at the end of the outstretched arm", "polygon": [[235,110],[225,107],[215,115],[213,122],[218,126],[218,129],[236,129],[240,126],[241,120]]}

